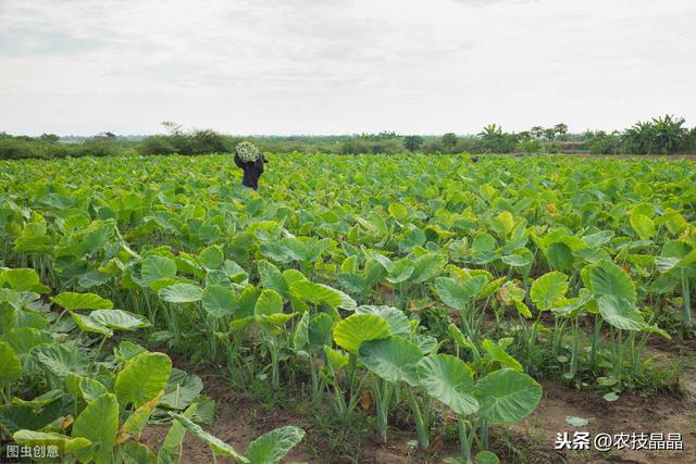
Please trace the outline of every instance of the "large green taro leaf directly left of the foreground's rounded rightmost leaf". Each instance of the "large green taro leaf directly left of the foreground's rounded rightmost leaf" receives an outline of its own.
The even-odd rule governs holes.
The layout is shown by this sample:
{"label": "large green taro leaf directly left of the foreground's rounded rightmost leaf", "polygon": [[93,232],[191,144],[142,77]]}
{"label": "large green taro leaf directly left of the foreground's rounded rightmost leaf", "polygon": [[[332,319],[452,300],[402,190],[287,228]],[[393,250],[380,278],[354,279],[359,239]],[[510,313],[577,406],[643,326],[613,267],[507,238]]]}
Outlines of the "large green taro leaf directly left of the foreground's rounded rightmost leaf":
{"label": "large green taro leaf directly left of the foreground's rounded rightmost leaf", "polygon": [[455,413],[468,416],[478,411],[473,397],[473,373],[458,358],[431,354],[417,365],[418,377],[427,394],[445,403]]}

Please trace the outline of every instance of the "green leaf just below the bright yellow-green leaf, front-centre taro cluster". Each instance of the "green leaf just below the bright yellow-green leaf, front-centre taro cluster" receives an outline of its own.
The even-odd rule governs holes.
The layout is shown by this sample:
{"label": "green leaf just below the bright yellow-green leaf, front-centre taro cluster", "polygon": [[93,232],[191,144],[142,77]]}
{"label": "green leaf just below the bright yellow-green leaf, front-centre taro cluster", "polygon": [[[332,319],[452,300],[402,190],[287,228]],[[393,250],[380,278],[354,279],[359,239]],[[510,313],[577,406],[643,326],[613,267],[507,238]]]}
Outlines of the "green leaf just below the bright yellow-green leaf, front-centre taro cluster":
{"label": "green leaf just below the bright yellow-green leaf, front-centre taro cluster", "polygon": [[359,359],[374,375],[387,381],[419,385],[415,365],[423,359],[423,353],[405,338],[368,340],[360,346]]}

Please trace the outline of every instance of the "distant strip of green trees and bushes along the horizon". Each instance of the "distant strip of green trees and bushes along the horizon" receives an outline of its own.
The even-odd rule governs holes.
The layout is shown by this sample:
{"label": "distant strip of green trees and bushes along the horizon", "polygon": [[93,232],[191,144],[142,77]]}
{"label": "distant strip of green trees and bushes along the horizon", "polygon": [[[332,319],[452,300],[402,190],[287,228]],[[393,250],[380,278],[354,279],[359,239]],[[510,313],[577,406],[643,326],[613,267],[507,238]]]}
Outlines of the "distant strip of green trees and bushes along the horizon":
{"label": "distant strip of green trees and bushes along the horizon", "polygon": [[162,134],[142,138],[116,137],[102,140],[63,139],[53,134],[40,137],[0,133],[0,159],[109,156],[122,154],[227,153],[241,140],[252,139],[263,151],[276,153],[320,152],[337,154],[403,151],[425,153],[559,153],[673,154],[696,152],[696,127],[683,117],[664,115],[638,122],[624,130],[586,130],[571,134],[566,124],[534,126],[519,133],[489,124],[475,135],[399,135],[394,131],[341,136],[232,136],[211,129],[185,129],[165,122]]}

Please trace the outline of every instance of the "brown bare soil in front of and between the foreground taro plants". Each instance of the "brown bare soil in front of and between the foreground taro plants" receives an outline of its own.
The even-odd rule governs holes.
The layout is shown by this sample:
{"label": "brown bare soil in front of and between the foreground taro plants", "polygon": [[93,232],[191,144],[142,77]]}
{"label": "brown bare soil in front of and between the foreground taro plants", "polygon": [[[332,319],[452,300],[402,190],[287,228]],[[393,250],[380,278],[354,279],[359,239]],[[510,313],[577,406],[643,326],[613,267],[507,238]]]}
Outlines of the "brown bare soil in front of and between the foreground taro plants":
{"label": "brown bare soil in front of and between the foreground taro plants", "polygon": [[[652,347],[652,350],[673,352],[674,347]],[[669,351],[667,351],[669,350]],[[691,351],[691,350],[689,350]],[[692,356],[683,369],[676,393],[642,396],[625,393],[614,402],[608,402],[597,392],[577,391],[561,381],[543,381],[544,397],[537,410],[521,424],[495,427],[490,446],[501,456],[504,463],[641,463],[641,464],[686,464],[696,463],[696,366]],[[182,365],[183,368],[187,366]],[[260,435],[284,425],[297,425],[307,430],[308,436],[284,460],[293,463],[435,463],[446,456],[458,455],[458,444],[445,437],[432,437],[432,452],[427,455],[413,449],[415,432],[409,427],[395,424],[390,430],[388,444],[384,446],[375,436],[362,442],[361,450],[351,450],[350,456],[328,456],[331,438],[313,430],[307,416],[297,412],[294,404],[287,407],[269,409],[249,398],[236,394],[223,378],[212,372],[198,373],[206,385],[204,392],[216,402],[216,416],[212,426],[206,429],[231,443],[238,451]],[[573,427],[566,422],[568,416],[589,421],[583,427]],[[169,427],[149,426],[144,434],[144,442],[157,449]],[[403,430],[399,430],[403,428]],[[589,431],[610,435],[632,432],[681,432],[684,451],[650,450],[555,450],[558,432]],[[510,448],[515,452],[510,452]],[[357,460],[356,460],[356,456]],[[523,456],[523,457],[521,457]],[[198,438],[186,435],[182,462],[211,463],[212,454],[208,446]],[[233,460],[219,457],[220,463]]]}

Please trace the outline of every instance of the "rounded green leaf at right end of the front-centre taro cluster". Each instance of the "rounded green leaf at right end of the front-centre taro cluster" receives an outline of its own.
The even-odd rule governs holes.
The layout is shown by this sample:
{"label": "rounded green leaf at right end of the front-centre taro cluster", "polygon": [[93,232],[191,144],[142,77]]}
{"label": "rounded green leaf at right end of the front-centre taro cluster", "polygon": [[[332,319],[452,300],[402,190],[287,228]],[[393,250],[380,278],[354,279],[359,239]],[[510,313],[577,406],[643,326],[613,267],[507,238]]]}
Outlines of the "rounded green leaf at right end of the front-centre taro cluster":
{"label": "rounded green leaf at right end of the front-centre taro cluster", "polygon": [[509,368],[494,371],[476,384],[481,414],[490,424],[514,423],[542,400],[542,387],[529,375]]}

